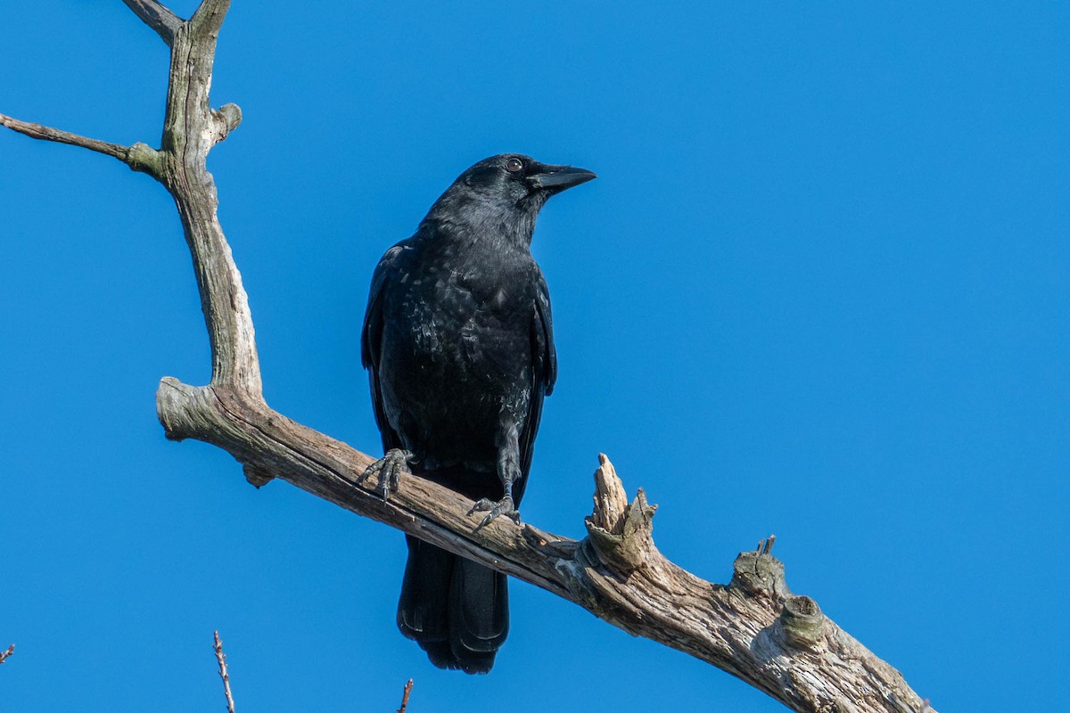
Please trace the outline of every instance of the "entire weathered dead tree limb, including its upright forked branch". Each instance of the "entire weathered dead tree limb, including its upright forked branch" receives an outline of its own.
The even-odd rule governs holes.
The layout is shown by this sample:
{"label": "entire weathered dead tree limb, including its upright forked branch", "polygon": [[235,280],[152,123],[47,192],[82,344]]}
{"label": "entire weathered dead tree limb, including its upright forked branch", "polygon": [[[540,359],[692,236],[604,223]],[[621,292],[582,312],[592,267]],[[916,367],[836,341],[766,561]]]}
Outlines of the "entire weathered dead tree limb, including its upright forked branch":
{"label": "entire weathered dead tree limb, including its upright forked branch", "polygon": [[[212,379],[190,386],[165,377],[156,408],[169,438],[196,438],[227,450],[262,485],[285,480],[360,515],[534,584],[630,634],[706,661],[808,713],[918,713],[926,703],[902,676],[794,596],[771,538],[740,554],[728,585],[676,567],[652,539],[655,507],[642,490],[630,503],[609,460],[595,472],[587,537],[569,540],[536,527],[494,521],[476,532],[471,503],[409,476],[387,502],[354,484],[373,459],[273,410],[263,400],[260,366],[241,275],[216,215],[207,168],[212,146],[241,122],[232,104],[212,109],[216,40],[229,0],[203,0],[182,20],[154,0],[124,0],[171,49],[160,148],[87,139],[0,114],[27,136],[107,154],[148,173],[170,192],[193,254],[212,347]],[[369,484],[367,487],[373,483]],[[928,709],[932,710],[932,709]]]}

